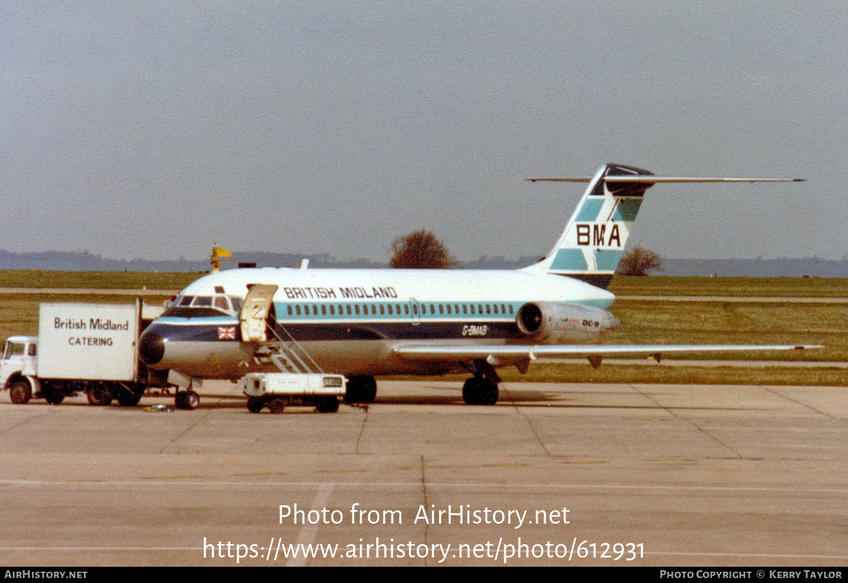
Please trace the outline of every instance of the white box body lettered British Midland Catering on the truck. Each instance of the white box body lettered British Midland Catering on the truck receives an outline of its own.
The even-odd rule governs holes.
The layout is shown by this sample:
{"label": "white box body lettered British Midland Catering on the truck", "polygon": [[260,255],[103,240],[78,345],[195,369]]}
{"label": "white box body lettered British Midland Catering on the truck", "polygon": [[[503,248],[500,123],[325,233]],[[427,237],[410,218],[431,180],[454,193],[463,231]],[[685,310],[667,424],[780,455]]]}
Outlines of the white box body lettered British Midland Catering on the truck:
{"label": "white box body lettered British Midland Catering on the truck", "polygon": [[42,303],[38,377],[135,381],[139,316],[138,304]]}

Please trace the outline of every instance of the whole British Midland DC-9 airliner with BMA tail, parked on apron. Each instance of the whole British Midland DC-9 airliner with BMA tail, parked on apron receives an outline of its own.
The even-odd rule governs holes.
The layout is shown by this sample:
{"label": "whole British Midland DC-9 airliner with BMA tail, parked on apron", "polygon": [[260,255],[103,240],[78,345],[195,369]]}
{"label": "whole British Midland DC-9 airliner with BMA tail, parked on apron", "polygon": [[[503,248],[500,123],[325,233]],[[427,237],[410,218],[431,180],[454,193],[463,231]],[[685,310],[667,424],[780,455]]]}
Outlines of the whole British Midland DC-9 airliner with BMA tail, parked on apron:
{"label": "whole British Midland DC-9 airliner with BMA tail, parked on apron", "polygon": [[[645,191],[661,182],[801,179],[656,176],[606,164],[559,240],[538,263],[517,270],[230,269],[187,286],[144,332],[139,356],[168,370],[177,404],[192,408],[204,379],[255,371],[326,371],[349,378],[345,400],[370,403],[374,375],[466,371],[462,397],[491,405],[497,369],[525,372],[538,358],[616,354],[792,350],[803,346],[603,345],[619,321],[606,311],[616,270]],[[165,373],[161,373],[165,374]]]}

